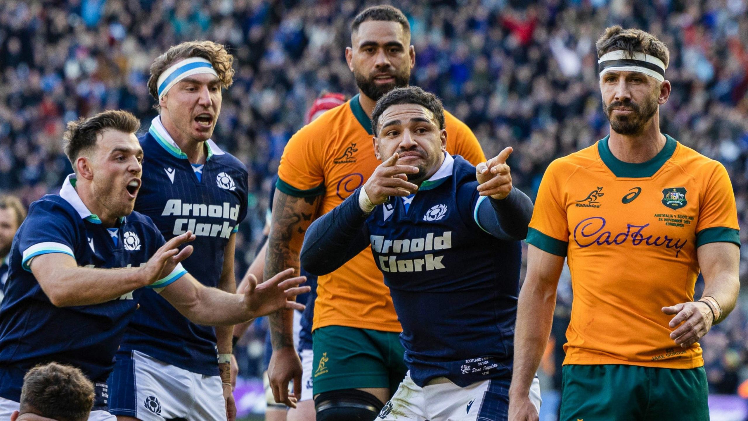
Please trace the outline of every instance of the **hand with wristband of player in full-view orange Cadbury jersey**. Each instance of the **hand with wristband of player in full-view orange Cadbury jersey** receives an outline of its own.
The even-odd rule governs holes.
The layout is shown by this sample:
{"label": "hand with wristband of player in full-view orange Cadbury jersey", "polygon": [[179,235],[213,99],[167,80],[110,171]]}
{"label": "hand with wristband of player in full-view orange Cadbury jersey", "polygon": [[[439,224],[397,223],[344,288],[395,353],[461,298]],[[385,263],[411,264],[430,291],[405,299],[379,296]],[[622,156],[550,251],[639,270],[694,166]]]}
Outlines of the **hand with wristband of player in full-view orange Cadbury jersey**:
{"label": "hand with wristband of player in full-view orange Cadbury jersey", "polygon": [[699,301],[689,301],[688,303],[663,307],[662,312],[666,315],[675,315],[669,324],[671,328],[683,322],[678,329],[670,333],[670,339],[681,345],[681,348],[688,348],[695,344],[711,329],[711,324],[714,321],[714,315],[709,305]]}

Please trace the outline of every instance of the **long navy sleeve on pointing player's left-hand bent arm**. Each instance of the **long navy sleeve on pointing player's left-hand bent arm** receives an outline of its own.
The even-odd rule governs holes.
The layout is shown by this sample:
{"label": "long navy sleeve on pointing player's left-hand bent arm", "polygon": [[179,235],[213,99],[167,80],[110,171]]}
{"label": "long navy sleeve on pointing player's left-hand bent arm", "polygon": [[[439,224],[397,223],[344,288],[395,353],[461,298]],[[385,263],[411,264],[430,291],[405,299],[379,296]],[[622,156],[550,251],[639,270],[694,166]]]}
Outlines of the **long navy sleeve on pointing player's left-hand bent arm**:
{"label": "long navy sleeve on pointing player's left-hand bent arm", "polygon": [[369,214],[364,213],[358,205],[361,188],[312,222],[301,246],[301,266],[304,270],[317,276],[325,275],[343,266],[369,246],[366,228]]}

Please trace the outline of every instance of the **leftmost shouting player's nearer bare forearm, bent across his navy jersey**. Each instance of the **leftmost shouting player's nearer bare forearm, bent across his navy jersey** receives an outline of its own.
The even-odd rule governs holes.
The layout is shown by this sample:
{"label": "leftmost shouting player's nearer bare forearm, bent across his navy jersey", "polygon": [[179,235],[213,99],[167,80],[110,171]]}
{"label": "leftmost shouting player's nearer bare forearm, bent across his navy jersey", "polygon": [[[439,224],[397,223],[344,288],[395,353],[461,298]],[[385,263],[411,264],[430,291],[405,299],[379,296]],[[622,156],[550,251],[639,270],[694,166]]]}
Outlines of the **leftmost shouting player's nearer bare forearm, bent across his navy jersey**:
{"label": "leftmost shouting player's nearer bare forearm, bent across his navy jersey", "polygon": [[[31,270],[44,293],[58,307],[105,303],[147,285],[140,268],[47,267],[32,262]],[[38,270],[37,270],[38,269]],[[37,275],[37,273],[40,273]],[[104,281],[105,282],[102,282]],[[46,282],[45,282],[46,281]]]}

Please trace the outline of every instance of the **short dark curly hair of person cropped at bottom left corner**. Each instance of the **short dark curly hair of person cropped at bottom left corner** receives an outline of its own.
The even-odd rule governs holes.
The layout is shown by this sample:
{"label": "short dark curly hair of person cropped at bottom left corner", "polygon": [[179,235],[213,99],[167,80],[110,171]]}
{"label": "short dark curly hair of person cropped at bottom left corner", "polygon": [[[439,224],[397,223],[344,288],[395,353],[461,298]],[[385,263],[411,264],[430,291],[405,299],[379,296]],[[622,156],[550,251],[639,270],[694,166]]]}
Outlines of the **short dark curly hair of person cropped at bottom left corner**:
{"label": "short dark curly hair of person cropped at bottom left corner", "polygon": [[20,412],[58,421],[86,421],[93,384],[81,370],[58,363],[36,366],[23,377]]}

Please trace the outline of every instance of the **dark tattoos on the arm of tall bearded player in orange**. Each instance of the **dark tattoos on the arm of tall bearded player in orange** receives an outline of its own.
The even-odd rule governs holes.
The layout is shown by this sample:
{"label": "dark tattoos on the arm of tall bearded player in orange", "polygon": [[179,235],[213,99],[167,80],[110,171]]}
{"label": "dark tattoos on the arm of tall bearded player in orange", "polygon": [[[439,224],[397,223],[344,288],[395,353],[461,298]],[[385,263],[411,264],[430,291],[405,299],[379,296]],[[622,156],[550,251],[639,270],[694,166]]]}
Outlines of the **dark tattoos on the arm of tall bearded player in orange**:
{"label": "dark tattoos on the arm of tall bearded player in orange", "polygon": [[[298,275],[301,243],[309,228],[322,196],[299,198],[278,190],[273,202],[272,222],[265,257],[265,279],[287,267]],[[269,316],[273,349],[293,346],[293,310],[283,309]]]}

